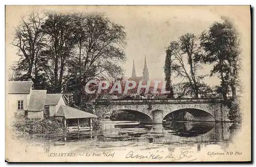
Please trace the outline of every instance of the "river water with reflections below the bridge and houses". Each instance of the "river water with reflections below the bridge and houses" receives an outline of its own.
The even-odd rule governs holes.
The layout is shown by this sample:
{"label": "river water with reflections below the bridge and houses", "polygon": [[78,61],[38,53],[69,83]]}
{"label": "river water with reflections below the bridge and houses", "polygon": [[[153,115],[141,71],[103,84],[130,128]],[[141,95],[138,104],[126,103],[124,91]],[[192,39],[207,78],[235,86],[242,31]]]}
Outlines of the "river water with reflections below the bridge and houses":
{"label": "river water with reflections below the bridge and houses", "polygon": [[88,151],[150,150],[180,146],[198,152],[208,146],[225,150],[239,131],[230,123],[169,122],[146,125],[129,121],[102,121],[97,131],[73,132],[68,135],[25,136],[27,144],[39,146],[45,154],[71,150],[77,155]]}

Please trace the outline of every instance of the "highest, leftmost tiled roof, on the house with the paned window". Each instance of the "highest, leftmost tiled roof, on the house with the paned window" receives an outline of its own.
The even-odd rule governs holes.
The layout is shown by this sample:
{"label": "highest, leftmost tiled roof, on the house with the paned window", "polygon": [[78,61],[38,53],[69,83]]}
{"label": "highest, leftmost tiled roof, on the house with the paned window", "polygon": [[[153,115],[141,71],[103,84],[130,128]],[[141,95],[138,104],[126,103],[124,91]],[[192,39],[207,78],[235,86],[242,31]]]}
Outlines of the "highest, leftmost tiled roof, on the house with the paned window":
{"label": "highest, leftmost tiled roof, on the house with the paned window", "polygon": [[8,93],[29,94],[33,81],[9,81]]}

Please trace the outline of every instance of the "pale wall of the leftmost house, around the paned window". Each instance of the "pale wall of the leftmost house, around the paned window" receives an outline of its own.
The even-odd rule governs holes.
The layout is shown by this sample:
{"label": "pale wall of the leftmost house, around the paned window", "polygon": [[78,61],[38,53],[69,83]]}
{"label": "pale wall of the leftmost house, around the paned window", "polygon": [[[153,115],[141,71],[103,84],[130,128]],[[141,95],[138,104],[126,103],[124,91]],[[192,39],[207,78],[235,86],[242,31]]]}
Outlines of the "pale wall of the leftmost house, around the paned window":
{"label": "pale wall of the leftmost house, around the paned window", "polygon": [[[18,100],[24,101],[23,110],[18,110]],[[17,116],[24,116],[25,110],[28,109],[29,100],[30,100],[30,94],[8,94],[7,95],[7,103],[8,103],[7,111],[11,112],[13,115],[16,114]]]}

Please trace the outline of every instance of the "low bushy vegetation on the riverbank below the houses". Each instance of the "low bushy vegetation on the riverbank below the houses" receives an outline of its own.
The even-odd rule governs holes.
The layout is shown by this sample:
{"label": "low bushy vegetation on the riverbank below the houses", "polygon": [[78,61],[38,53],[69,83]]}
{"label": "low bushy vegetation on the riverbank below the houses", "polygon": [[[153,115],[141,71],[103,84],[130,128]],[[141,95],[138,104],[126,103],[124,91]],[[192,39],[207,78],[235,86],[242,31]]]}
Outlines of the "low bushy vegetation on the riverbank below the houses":
{"label": "low bushy vegetation on the riverbank below the houses", "polygon": [[16,119],[12,126],[16,131],[29,134],[46,134],[66,131],[63,124],[54,118],[35,120],[29,118]]}

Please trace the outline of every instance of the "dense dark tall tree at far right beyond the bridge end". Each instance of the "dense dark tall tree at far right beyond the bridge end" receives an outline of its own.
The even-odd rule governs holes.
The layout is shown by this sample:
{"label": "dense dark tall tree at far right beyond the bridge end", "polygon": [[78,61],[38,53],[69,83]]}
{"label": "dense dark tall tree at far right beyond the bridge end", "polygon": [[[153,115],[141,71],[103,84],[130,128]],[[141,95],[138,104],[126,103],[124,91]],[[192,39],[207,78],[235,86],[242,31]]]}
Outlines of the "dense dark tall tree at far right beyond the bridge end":
{"label": "dense dark tall tree at far right beyond the bridge end", "polygon": [[227,100],[229,87],[236,98],[240,71],[240,38],[233,23],[222,17],[223,22],[214,22],[200,36],[200,44],[205,51],[202,61],[214,64],[211,75],[218,74],[221,79],[223,99]]}

